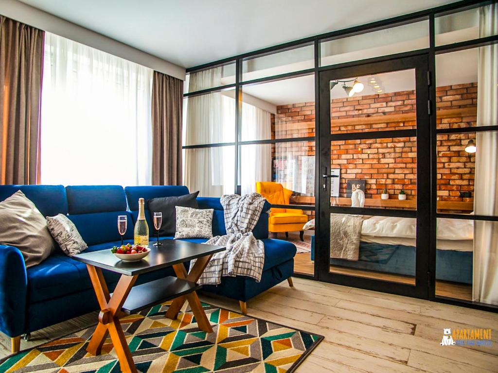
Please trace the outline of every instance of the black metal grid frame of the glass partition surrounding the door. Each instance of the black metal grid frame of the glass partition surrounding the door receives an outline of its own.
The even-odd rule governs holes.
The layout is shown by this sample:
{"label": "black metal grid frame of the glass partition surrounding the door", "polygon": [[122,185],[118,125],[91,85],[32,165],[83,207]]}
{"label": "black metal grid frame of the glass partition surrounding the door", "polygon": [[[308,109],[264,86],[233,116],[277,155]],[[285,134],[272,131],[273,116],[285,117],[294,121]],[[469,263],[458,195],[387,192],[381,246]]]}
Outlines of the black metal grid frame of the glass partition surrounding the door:
{"label": "black metal grid frame of the glass partition surrounding the door", "polygon": [[[446,15],[446,14],[451,14],[451,13],[456,13],[460,11],[464,11],[467,9],[475,8],[478,6],[483,6],[486,4],[494,3],[497,2],[497,0],[486,0],[486,1],[479,1],[479,0],[462,0],[458,2],[454,2],[451,4],[447,5],[442,5],[438,7],[434,7],[431,9],[426,9],[426,10],[421,10],[418,12],[410,13],[410,14],[405,14],[389,19],[383,19],[380,21],[364,24],[361,26],[355,26],[355,27],[350,27],[347,29],[343,30],[338,30],[338,31],[333,31],[329,33],[324,33],[320,35],[315,35],[312,37],[307,37],[279,45],[275,45],[272,47],[260,49],[257,51],[253,52],[248,52],[248,53],[243,53],[238,56],[233,56],[229,58],[225,58],[222,60],[218,60],[215,62],[211,62],[208,64],[203,64],[199,66],[195,66],[192,68],[187,69],[187,73],[191,72],[198,72],[201,70],[205,69],[210,69],[218,66],[223,66],[227,64],[236,64],[236,83],[235,84],[229,84],[225,85],[223,87],[215,87],[215,88],[210,88],[198,92],[190,92],[190,93],[185,93],[184,97],[190,97],[190,96],[195,96],[195,95],[200,95],[200,94],[206,94],[206,93],[212,93],[212,92],[219,92],[223,90],[231,90],[235,89],[236,90],[236,101],[237,101],[237,107],[236,107],[236,137],[234,142],[229,142],[229,143],[219,143],[219,144],[200,144],[200,145],[189,145],[189,146],[184,146],[184,149],[195,149],[195,148],[208,148],[208,147],[216,147],[216,146],[235,146],[235,168],[236,168],[236,177],[235,177],[235,191],[237,192],[239,190],[238,184],[240,180],[240,146],[241,145],[250,145],[250,144],[276,144],[280,142],[294,142],[294,141],[315,141],[315,149],[316,149],[316,170],[319,169],[319,163],[320,163],[320,157],[318,156],[318,149],[321,149],[325,145],[328,145],[330,138],[321,138],[321,136],[316,136],[316,137],[306,137],[306,138],[291,138],[291,139],[265,139],[265,140],[254,140],[254,141],[241,141],[240,139],[240,128],[241,128],[241,119],[240,119],[240,113],[242,109],[242,88],[243,86],[249,86],[253,84],[260,84],[260,83],[266,83],[266,82],[271,82],[271,81],[278,81],[278,80],[283,80],[283,79],[290,79],[290,78],[296,78],[304,75],[310,75],[314,74],[315,77],[315,125],[317,129],[320,128],[320,120],[319,120],[319,115],[320,115],[320,72],[325,72],[331,69],[340,69],[340,68],[347,68],[347,67],[352,67],[352,66],[358,66],[358,65],[366,65],[369,63],[378,63],[382,61],[394,61],[396,59],[405,59],[408,57],[414,57],[414,56],[426,56],[427,58],[427,69],[429,72],[429,79],[430,79],[430,84],[429,84],[429,89],[425,89],[424,92],[427,92],[428,94],[428,106],[429,106],[429,115],[428,115],[428,120],[429,120],[429,125],[427,126],[427,133],[425,133],[425,130],[422,134],[420,134],[420,129],[418,131],[415,130],[401,130],[401,131],[412,131],[409,136],[412,136],[413,133],[416,133],[417,136],[417,144],[419,144],[419,136],[422,136],[420,138],[420,143],[424,142],[427,143],[426,145],[430,149],[430,153],[426,153],[426,156],[419,155],[417,158],[417,168],[421,167],[419,165],[422,164],[422,159],[420,156],[422,156],[423,161],[426,161],[425,165],[430,165],[429,167],[429,172],[428,172],[428,178],[427,183],[429,184],[430,187],[430,192],[426,196],[427,200],[424,202],[421,206],[418,206],[417,202],[417,212],[415,211],[409,211],[409,210],[398,210],[396,213],[402,215],[402,216],[414,216],[414,214],[419,214],[420,210],[423,209],[423,214],[426,216],[424,218],[424,229],[427,229],[428,235],[426,237],[422,237],[421,239],[424,240],[424,242],[428,243],[428,253],[427,257],[425,258],[426,264],[424,264],[424,267],[428,268],[428,276],[426,277],[426,280],[424,282],[427,283],[427,293],[425,296],[423,294],[419,294],[422,297],[426,297],[430,300],[434,301],[439,301],[439,302],[444,302],[444,303],[450,303],[450,304],[456,304],[456,305],[463,305],[471,308],[479,308],[479,309],[485,309],[485,310],[491,310],[494,312],[498,311],[498,307],[492,306],[489,304],[481,304],[481,303],[476,303],[476,302],[468,302],[464,301],[461,299],[454,299],[454,298],[446,298],[446,297],[440,297],[435,295],[435,257],[436,257],[436,219],[438,217],[447,217],[447,218],[456,218],[456,219],[472,219],[472,220],[490,220],[490,221],[498,221],[498,218],[495,216],[479,216],[479,215],[458,215],[458,214],[446,214],[446,213],[438,213],[437,212],[437,197],[436,197],[436,190],[437,190],[437,163],[436,163],[436,136],[437,134],[443,134],[443,133],[465,133],[465,132],[478,132],[478,131],[487,131],[487,130],[498,130],[498,125],[493,125],[493,126],[488,126],[488,127],[470,127],[470,128],[450,128],[450,129],[436,129],[436,87],[433,82],[435,81],[435,76],[436,76],[436,69],[435,69],[435,56],[437,54],[442,54],[442,53],[448,53],[448,52],[453,52],[453,51],[458,51],[458,50],[464,50],[464,49],[469,49],[469,48],[476,48],[484,45],[490,45],[490,44],[495,44],[498,43],[498,35],[495,36],[490,36],[490,37],[485,37],[485,38],[479,38],[479,39],[474,39],[474,40],[467,40],[459,43],[454,43],[454,44],[448,44],[448,45],[441,45],[441,46],[435,46],[435,18],[438,16]],[[422,49],[422,50],[417,50],[417,51],[408,51],[408,52],[403,52],[403,53],[398,53],[395,55],[389,55],[389,56],[382,56],[382,57],[376,57],[372,59],[367,59],[367,60],[362,60],[362,61],[352,61],[352,62],[347,62],[347,63],[342,63],[342,64],[337,64],[333,66],[320,66],[320,54],[321,54],[321,48],[320,48],[320,43],[323,41],[328,41],[332,39],[338,39],[338,38],[343,38],[343,37],[348,37],[348,36],[353,36],[353,35],[358,35],[361,33],[368,33],[376,30],[381,30],[385,28],[390,28],[390,27],[395,27],[398,25],[402,24],[408,24],[412,22],[417,22],[420,20],[425,20],[428,19],[429,21],[429,48]],[[306,70],[301,70],[301,71],[296,71],[296,72],[290,72],[290,73],[285,73],[277,76],[271,76],[271,77],[263,77],[259,79],[254,79],[251,81],[246,81],[244,82],[242,79],[242,64],[244,60],[249,60],[252,58],[257,58],[257,57],[262,57],[265,55],[273,54],[273,53],[278,53],[286,50],[291,50],[299,47],[303,47],[306,45],[313,45],[314,46],[314,68],[312,69],[306,69]],[[418,88],[418,87],[417,87]],[[426,87],[427,88],[427,87]],[[420,94],[417,92],[417,95]],[[417,104],[418,108],[418,104]],[[425,116],[427,117],[427,113],[425,113]],[[419,113],[417,112],[417,118],[419,117]],[[329,119],[328,119],[329,120]],[[330,127],[329,127],[330,128]],[[387,131],[386,131],[387,132]],[[390,136],[385,136],[385,137],[398,137],[397,131],[392,131]],[[408,132],[406,132],[407,134]],[[330,134],[329,134],[330,135]],[[347,135],[347,134],[345,134]],[[353,137],[352,138],[365,138],[362,136],[365,136],[363,134],[350,134]],[[338,136],[338,135],[336,135]],[[341,135],[344,136],[344,135]],[[373,138],[372,132],[369,132],[368,135],[370,138]],[[400,135],[401,136],[401,135]],[[346,137],[346,136],[344,136]],[[341,137],[337,137],[337,139],[340,139]],[[417,145],[418,146],[418,145]],[[417,171],[422,171],[425,173],[423,170],[417,170]],[[316,173],[318,175],[318,173]],[[419,188],[419,183],[421,179],[419,175],[417,174],[417,189]],[[321,179],[316,178],[315,181],[315,195],[317,194],[316,191],[319,190],[321,187]],[[418,193],[418,191],[417,191]],[[422,199],[419,198],[417,200]],[[328,202],[328,199],[327,199]],[[320,202],[321,203],[321,202]],[[315,203],[314,206],[312,205],[278,205],[278,207],[289,207],[289,208],[301,208],[304,210],[315,210],[315,216],[319,216],[319,210],[320,206],[318,201]],[[277,205],[275,205],[277,207]],[[334,207],[333,210],[335,212],[345,212],[347,209],[348,212],[355,212],[353,208],[342,208],[342,207]],[[392,212],[391,210],[382,210],[382,209],[362,209],[364,213],[375,213],[377,215],[387,215],[387,216],[392,216],[390,215]],[[400,212],[403,211],[403,212]],[[428,211],[428,212],[427,212]],[[472,217],[470,217],[472,216]],[[419,218],[420,220],[420,218]],[[428,225],[427,225],[427,224]],[[417,230],[418,232],[419,230]],[[418,241],[418,237],[417,237]],[[417,250],[418,252],[419,250]],[[418,261],[417,257],[417,261]],[[327,261],[328,263],[328,261]],[[304,278],[311,278],[314,280],[318,280],[318,272],[315,270],[315,274],[313,276],[307,276],[307,275],[300,275],[300,274],[295,274],[295,276],[298,277],[304,277]],[[423,275],[420,275],[423,276]],[[367,281],[370,282],[371,280],[369,279],[363,279],[363,278],[348,278],[347,284],[353,285],[353,286],[359,286],[359,287],[366,287],[368,288]],[[396,287],[396,286],[394,286]],[[395,290],[395,289],[394,289]],[[383,291],[391,291],[390,288],[383,288]],[[405,293],[406,294],[406,293]]]}

